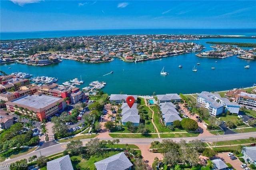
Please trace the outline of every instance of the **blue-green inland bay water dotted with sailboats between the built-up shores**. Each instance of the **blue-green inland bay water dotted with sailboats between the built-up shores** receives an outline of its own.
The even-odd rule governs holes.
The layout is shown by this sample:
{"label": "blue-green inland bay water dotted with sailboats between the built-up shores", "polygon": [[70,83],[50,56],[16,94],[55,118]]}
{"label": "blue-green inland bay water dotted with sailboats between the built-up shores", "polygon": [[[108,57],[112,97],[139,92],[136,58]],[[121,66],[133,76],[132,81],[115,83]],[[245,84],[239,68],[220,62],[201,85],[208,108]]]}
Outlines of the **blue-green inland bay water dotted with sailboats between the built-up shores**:
{"label": "blue-green inland bay water dotted with sailboats between the built-up shores", "polygon": [[[255,39],[232,38],[202,39],[192,42],[205,45],[207,48],[204,50],[207,51],[212,49],[210,44],[205,43],[208,41],[255,43]],[[256,61],[240,59],[235,55],[225,59],[210,59],[197,57],[195,53],[186,53],[138,63],[124,62],[118,58],[114,58],[112,62],[94,64],[62,60],[61,63],[42,67],[10,63],[1,65],[1,70],[8,74],[20,71],[33,74],[33,77],[43,75],[56,77],[59,84],[75,77],[80,79],[81,75],[84,84],[78,87],[82,89],[91,81],[106,81],[107,85],[102,90],[108,94],[119,94],[121,91],[124,94],[137,95],[152,95],[153,92],[197,93],[248,87],[256,83]],[[183,67],[179,68],[179,65]],[[197,67],[197,72],[192,71],[194,65]],[[246,65],[250,65],[250,68],[245,69]],[[169,75],[160,75],[163,67]],[[110,71],[114,73],[106,75]]]}

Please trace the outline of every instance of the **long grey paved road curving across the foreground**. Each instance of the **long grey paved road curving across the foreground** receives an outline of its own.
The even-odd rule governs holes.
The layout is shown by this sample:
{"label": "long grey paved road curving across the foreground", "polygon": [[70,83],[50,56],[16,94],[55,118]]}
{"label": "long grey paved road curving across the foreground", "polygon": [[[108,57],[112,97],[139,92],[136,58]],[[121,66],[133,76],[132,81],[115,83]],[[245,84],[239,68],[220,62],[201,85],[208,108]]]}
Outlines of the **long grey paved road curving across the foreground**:
{"label": "long grey paved road curving across the foreground", "polygon": [[[256,134],[255,132],[248,132],[248,133],[238,133],[236,135],[234,134],[224,134],[224,135],[219,135],[218,136],[218,141],[223,141],[223,140],[237,140],[237,139],[244,139],[244,138],[249,138],[249,137],[254,137],[256,138]],[[189,137],[189,138],[172,138],[172,140],[179,142],[181,139],[184,140],[194,140],[194,139],[201,139],[202,136],[200,137]],[[100,138],[100,140],[113,140],[114,138]],[[164,138],[120,138],[120,144],[150,144],[153,141],[162,141]],[[216,142],[217,137],[215,135],[213,136],[205,136],[204,137],[206,142]],[[89,141],[90,139],[83,139],[83,143],[85,144],[87,141]],[[42,148],[42,149],[37,149],[29,154],[23,155],[23,156],[19,156],[18,158],[14,158],[14,159],[9,159],[9,160],[5,160],[3,163],[12,163],[12,162],[16,162],[17,160],[20,159],[28,159],[29,157],[33,156],[33,155],[37,155],[38,157],[40,156],[40,154],[44,155],[44,156],[49,156],[52,154],[56,154],[58,152],[62,152],[65,150],[66,148],[66,144],[68,144],[68,142],[66,143],[60,143],[60,144],[55,144],[53,146],[49,146],[46,148]],[[2,165],[1,165],[2,166]],[[1,170],[8,170],[8,168],[2,168]]]}

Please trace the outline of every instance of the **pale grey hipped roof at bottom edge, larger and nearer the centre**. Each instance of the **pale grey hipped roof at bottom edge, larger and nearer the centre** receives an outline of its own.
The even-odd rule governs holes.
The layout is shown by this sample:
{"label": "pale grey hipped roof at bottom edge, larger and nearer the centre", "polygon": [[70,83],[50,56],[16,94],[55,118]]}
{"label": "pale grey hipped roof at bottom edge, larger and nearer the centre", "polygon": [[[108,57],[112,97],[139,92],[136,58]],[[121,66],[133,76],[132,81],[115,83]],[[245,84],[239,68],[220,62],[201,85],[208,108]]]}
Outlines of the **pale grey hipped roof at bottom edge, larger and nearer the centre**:
{"label": "pale grey hipped roof at bottom edge, larger and nearer the centre", "polygon": [[120,152],[119,154],[95,162],[94,165],[97,170],[131,170],[133,164],[124,152]]}

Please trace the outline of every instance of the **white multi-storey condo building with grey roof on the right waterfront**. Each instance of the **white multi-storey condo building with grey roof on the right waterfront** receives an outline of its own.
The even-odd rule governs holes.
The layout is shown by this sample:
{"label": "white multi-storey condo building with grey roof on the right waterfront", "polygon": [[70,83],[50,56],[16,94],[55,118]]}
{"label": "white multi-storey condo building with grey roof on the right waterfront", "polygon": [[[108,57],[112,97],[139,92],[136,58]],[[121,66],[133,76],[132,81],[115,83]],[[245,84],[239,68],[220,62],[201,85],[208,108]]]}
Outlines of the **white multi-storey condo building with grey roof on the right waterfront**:
{"label": "white multi-storey condo building with grey roof on the right waterfront", "polygon": [[223,111],[238,114],[240,109],[238,103],[230,102],[227,98],[220,97],[218,93],[210,93],[208,91],[202,91],[198,94],[196,102],[208,109],[210,115],[213,116],[220,115]]}

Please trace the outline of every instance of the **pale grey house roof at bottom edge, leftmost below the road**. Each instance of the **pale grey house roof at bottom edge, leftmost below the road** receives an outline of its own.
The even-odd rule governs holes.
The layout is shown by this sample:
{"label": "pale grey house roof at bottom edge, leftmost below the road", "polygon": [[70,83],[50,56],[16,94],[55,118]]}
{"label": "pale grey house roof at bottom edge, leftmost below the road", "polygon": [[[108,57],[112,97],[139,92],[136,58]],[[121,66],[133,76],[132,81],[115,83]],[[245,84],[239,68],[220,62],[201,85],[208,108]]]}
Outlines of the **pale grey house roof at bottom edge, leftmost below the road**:
{"label": "pale grey house roof at bottom edge, leftmost below the road", "polygon": [[47,170],[74,170],[69,155],[47,162]]}

